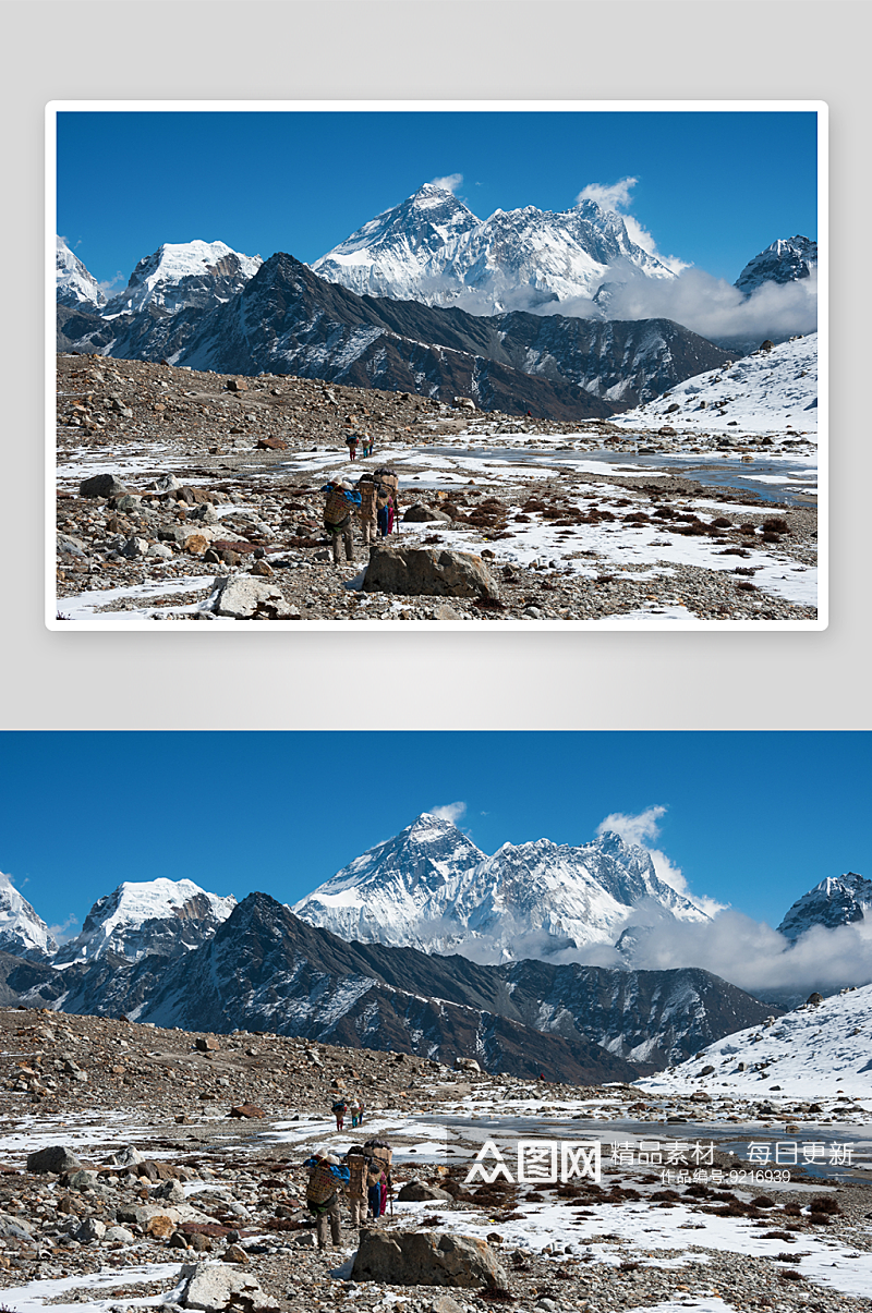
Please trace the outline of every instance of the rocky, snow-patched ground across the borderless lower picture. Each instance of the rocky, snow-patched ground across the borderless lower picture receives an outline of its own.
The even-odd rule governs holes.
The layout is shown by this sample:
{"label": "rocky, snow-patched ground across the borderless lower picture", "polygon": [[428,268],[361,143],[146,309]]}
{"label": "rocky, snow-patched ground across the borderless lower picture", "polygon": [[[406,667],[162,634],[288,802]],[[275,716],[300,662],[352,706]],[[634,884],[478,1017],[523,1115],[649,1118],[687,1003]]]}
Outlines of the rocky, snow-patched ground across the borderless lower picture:
{"label": "rocky, snow-patched ground across the borderless lower picture", "polygon": [[[784,1180],[755,1176],[730,1148],[739,1136],[856,1136],[868,1099],[754,1103],[704,1085],[657,1096],[33,1010],[0,1011],[0,1049],[7,1308],[869,1308],[863,1165]],[[364,1100],[362,1132],[335,1129],[339,1092]],[[599,1140],[601,1180],[468,1182],[485,1140],[512,1166],[519,1134]],[[302,1162],[366,1136],[394,1146],[394,1196],[366,1225],[370,1258],[355,1271],[347,1211],[340,1249],[313,1247]],[[695,1142],[705,1167],[670,1176],[662,1163],[688,1161]]]}

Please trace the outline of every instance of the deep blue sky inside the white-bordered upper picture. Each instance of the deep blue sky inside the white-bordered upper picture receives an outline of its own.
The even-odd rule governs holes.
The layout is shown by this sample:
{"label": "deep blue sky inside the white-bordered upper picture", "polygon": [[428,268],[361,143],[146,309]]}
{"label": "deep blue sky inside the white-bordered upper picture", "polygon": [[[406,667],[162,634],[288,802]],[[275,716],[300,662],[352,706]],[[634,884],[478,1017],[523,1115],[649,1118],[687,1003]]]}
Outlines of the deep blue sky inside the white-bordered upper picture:
{"label": "deep blue sky inside the white-bordered upper picture", "polygon": [[423,183],[479,217],[624,188],[666,256],[733,282],[817,236],[817,122],[759,112],[64,112],[58,232],[113,290],[163,242],[311,261]]}

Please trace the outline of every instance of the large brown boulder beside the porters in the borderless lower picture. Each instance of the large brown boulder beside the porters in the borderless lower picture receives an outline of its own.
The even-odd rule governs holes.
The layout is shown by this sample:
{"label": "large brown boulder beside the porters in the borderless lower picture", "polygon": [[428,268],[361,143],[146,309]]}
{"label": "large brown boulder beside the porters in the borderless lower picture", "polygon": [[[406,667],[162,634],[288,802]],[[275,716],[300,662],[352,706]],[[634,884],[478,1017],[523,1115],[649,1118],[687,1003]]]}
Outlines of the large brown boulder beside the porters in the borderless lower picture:
{"label": "large brown boulder beside the porters in the borderless lower picture", "polygon": [[361,1230],[351,1278],[390,1285],[507,1284],[506,1271],[486,1241],[437,1232]]}

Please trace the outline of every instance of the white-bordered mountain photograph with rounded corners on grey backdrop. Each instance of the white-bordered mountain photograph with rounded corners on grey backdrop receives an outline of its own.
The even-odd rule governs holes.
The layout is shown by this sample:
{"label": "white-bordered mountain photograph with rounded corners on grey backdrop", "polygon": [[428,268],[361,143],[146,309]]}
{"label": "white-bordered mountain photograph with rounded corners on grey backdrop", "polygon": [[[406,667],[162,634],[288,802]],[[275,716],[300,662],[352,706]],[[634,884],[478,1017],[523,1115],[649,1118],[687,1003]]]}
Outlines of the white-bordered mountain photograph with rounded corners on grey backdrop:
{"label": "white-bordered mountain photograph with rounded corners on grey backdrop", "polygon": [[826,628],[826,121],[53,102],[47,626]]}

